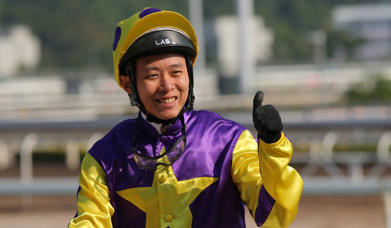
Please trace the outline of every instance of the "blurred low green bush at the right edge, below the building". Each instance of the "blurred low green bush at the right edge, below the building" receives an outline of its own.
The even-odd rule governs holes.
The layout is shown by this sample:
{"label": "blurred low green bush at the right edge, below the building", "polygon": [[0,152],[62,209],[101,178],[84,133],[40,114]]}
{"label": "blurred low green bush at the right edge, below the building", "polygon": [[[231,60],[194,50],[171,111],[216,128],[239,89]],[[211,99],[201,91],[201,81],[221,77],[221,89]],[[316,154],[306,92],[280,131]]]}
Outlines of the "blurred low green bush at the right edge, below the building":
{"label": "blurred low green bush at the right edge, below the building", "polygon": [[347,102],[391,101],[391,80],[384,76],[370,75],[368,80],[353,84],[345,93]]}

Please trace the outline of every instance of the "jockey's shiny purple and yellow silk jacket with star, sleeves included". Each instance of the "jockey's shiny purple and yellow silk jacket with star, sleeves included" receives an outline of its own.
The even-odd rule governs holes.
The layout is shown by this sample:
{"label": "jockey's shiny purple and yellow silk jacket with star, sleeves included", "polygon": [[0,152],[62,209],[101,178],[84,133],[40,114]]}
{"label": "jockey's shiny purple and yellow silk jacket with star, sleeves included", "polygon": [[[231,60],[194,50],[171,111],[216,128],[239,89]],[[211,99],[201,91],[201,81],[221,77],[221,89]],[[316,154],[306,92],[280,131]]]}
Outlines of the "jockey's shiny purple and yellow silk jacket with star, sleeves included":
{"label": "jockey's shiny purple and yellow silk jacket with star, sleeves included", "polygon": [[[133,158],[136,119],[97,141],[83,160],[68,227],[245,227],[245,205],[258,226],[287,227],[303,182],[288,166],[285,135],[274,144],[261,141],[258,156],[257,140],[237,122],[205,110],[184,117],[181,158],[155,172],[139,169]],[[157,156],[180,136],[179,120],[163,135],[142,118],[135,149]]]}

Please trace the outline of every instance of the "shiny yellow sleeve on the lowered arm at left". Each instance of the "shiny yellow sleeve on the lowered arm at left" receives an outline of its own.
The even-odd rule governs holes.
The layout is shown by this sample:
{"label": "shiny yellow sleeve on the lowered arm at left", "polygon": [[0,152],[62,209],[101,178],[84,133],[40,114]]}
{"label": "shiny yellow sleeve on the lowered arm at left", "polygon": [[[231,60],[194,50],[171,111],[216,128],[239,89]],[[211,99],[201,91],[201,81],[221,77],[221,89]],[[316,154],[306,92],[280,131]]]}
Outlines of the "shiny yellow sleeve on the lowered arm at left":
{"label": "shiny yellow sleeve on the lowered arm at left", "polygon": [[77,214],[68,228],[111,228],[114,208],[110,204],[106,175],[89,153],[81,164],[79,184]]}

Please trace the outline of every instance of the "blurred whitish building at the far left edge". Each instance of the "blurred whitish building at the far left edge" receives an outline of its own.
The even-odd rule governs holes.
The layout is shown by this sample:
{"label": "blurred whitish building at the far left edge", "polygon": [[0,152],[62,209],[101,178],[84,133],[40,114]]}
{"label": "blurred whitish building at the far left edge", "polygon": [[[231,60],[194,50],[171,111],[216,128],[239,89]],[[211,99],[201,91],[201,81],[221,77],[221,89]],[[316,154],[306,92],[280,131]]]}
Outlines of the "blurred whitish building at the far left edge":
{"label": "blurred whitish building at the far left edge", "polygon": [[29,27],[18,25],[0,31],[0,77],[10,77],[20,68],[34,68],[41,59],[41,42]]}

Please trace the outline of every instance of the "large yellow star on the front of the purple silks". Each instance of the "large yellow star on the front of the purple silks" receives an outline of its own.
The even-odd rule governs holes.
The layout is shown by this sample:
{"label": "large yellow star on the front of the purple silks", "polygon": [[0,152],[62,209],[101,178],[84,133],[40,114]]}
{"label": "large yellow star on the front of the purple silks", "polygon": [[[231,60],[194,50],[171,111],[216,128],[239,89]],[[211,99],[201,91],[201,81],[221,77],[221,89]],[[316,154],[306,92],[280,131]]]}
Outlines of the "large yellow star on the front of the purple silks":
{"label": "large yellow star on the front of the purple silks", "polygon": [[[163,147],[161,154],[164,152]],[[167,156],[161,159],[168,162]],[[145,228],[191,227],[193,217],[190,203],[217,180],[219,178],[198,177],[178,181],[171,166],[160,165],[154,173],[151,187],[126,189],[117,193],[147,214]]]}

